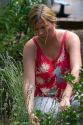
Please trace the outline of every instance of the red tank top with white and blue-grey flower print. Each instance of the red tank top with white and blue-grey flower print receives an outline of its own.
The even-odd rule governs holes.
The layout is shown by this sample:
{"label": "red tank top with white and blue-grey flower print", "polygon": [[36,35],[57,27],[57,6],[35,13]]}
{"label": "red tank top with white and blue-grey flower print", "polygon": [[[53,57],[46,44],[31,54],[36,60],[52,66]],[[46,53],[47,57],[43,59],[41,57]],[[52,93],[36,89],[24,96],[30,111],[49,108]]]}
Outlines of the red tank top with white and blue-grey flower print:
{"label": "red tank top with white and blue-grey flower print", "polygon": [[47,96],[60,100],[66,87],[65,72],[70,71],[69,54],[66,51],[66,32],[60,41],[57,57],[51,61],[42,51],[36,38],[33,41],[37,47],[35,70],[35,96]]}

